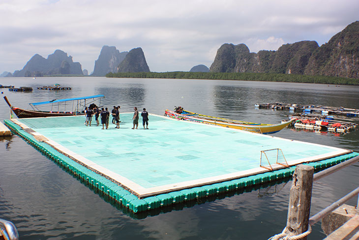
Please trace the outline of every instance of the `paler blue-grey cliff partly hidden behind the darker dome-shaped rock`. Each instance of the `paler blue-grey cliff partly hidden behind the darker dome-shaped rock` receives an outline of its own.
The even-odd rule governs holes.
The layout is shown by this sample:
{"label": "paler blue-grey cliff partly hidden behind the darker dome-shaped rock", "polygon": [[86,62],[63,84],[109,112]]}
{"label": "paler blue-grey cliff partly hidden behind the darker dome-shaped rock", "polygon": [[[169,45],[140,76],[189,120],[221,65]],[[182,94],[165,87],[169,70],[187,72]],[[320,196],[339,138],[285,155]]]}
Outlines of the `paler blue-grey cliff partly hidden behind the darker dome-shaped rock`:
{"label": "paler blue-grey cliff partly hidden behind the darker dome-shaped rock", "polygon": [[109,72],[118,72],[118,66],[128,52],[120,52],[114,46],[103,46],[95,61],[92,76],[105,76]]}

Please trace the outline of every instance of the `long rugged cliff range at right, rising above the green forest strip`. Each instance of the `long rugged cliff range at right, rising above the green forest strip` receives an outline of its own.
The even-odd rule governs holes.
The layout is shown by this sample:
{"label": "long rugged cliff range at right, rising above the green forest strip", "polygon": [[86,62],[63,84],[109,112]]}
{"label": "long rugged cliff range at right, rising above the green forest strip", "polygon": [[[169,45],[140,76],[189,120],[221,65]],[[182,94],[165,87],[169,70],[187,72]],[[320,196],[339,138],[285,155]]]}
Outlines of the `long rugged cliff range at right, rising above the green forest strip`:
{"label": "long rugged cliff range at right, rising above the green forest strip", "polygon": [[284,44],[277,51],[251,53],[245,44],[223,44],[211,72],[264,72],[359,78],[359,21],[348,25],[328,43]]}

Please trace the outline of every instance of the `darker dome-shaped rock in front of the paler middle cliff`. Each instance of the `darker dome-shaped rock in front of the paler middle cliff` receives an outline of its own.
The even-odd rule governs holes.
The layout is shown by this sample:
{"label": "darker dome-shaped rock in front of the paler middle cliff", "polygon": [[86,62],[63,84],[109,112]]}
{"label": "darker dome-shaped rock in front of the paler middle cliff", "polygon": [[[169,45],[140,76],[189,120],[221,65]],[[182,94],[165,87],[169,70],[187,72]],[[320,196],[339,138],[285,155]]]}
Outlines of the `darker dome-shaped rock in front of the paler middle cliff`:
{"label": "darker dome-shaped rock in front of the paler middle cliff", "polygon": [[134,48],[128,52],[124,60],[119,64],[118,72],[148,72],[145,54],[142,48]]}

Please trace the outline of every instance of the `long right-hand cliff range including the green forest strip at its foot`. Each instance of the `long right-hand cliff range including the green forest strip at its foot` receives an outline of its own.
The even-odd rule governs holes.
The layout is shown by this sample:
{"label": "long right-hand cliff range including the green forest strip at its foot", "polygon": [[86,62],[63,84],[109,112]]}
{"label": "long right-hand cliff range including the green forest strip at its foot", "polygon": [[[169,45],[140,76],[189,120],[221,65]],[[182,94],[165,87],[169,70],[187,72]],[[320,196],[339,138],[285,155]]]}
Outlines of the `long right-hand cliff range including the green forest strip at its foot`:
{"label": "long right-hand cliff range including the green forest strip at its foot", "polygon": [[245,44],[225,43],[217,50],[210,72],[193,70],[195,67],[190,72],[108,73],[106,76],[359,85],[359,21],[322,46],[316,41],[300,41],[284,44],[277,51],[251,53]]}

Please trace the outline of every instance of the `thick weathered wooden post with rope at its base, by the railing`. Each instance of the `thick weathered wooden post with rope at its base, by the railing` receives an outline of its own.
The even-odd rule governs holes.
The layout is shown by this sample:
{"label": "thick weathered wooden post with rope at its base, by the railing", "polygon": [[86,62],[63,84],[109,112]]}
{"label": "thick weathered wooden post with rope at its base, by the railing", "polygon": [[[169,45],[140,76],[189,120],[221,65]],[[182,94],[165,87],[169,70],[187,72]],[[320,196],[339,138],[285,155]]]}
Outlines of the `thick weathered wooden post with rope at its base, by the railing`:
{"label": "thick weathered wooden post with rope at its base, by the railing", "polygon": [[[289,196],[286,234],[296,236],[308,230],[314,168],[298,165]],[[303,238],[306,240],[306,238]]]}

